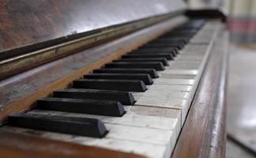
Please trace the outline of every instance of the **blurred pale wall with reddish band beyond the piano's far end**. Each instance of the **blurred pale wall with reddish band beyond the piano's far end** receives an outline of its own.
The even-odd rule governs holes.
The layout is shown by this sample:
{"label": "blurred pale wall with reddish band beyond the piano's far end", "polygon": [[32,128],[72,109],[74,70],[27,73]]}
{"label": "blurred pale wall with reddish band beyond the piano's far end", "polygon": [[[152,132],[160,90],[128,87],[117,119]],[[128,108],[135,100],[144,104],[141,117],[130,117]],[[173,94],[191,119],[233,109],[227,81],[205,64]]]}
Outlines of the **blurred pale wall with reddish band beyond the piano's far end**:
{"label": "blurred pale wall with reddish band beyond the piano's far end", "polygon": [[228,13],[230,40],[256,43],[256,0],[189,0],[190,8],[220,8]]}

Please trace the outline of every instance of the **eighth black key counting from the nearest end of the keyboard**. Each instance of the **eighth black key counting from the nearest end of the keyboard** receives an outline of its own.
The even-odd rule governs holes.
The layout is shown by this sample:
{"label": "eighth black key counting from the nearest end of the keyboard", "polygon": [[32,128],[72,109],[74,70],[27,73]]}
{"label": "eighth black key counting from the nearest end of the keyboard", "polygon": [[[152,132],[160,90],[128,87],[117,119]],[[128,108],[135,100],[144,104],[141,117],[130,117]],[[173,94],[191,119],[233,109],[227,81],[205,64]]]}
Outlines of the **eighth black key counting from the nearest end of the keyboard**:
{"label": "eighth black key counting from the nearest end of the keyboard", "polygon": [[167,58],[121,58],[113,62],[162,62],[164,66],[168,66]]}

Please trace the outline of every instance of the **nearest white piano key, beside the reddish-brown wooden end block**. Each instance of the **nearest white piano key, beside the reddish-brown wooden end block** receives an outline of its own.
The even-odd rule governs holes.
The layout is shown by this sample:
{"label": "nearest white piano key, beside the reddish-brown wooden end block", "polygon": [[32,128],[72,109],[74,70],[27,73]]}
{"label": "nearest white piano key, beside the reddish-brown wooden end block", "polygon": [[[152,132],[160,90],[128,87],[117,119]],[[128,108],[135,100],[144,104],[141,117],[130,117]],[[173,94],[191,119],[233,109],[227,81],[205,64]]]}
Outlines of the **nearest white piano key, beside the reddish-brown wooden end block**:
{"label": "nearest white piano key, beside the reddish-brown wooden end block", "polygon": [[57,134],[52,132],[45,132],[40,130],[30,130],[24,128],[17,128],[12,126],[4,126],[3,130],[9,130],[21,134],[33,134],[40,137],[47,137],[58,141],[69,141],[81,145],[96,146],[104,149],[113,149],[122,152],[133,152],[149,157],[169,157],[171,150],[174,148],[173,143],[170,149],[167,145],[156,145],[149,143],[141,143],[138,141],[124,141],[111,138],[92,138],[92,137],[80,137],[69,134]]}

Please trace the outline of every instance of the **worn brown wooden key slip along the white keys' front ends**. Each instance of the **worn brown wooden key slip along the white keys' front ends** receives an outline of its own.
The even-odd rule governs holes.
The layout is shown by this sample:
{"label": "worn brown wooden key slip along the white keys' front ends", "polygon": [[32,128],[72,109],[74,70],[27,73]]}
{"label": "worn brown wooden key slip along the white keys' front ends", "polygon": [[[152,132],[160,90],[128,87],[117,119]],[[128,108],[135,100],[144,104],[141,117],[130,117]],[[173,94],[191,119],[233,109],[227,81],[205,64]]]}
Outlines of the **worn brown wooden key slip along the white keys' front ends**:
{"label": "worn brown wooden key slip along the white keys' front ends", "polygon": [[226,35],[216,39],[172,157],[225,157]]}

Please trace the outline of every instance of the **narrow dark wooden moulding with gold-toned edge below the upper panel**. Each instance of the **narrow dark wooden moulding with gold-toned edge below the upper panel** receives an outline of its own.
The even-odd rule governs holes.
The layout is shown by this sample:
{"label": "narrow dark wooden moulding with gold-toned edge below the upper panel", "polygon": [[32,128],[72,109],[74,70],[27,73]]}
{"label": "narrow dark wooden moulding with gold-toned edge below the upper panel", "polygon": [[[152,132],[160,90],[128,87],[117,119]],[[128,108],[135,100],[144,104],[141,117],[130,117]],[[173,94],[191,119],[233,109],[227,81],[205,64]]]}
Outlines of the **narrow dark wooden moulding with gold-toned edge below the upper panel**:
{"label": "narrow dark wooden moulding with gold-toned edge below the upper panel", "polygon": [[[86,48],[94,47],[96,45],[106,43],[107,41],[117,39],[120,36],[125,36],[130,32],[135,32],[140,28],[145,28],[146,26],[156,24],[171,17],[172,15],[170,14],[164,14],[157,17],[146,18],[141,21],[133,21],[129,24],[120,24],[119,26],[108,27],[101,32],[95,32],[92,35],[83,36],[76,40],[70,40],[52,47],[28,52],[24,55],[17,55],[12,58],[3,59],[0,61],[0,80],[13,74],[21,73],[24,70],[40,66],[43,63],[51,62],[58,58],[77,53],[78,51],[83,51]],[[15,49],[13,51],[15,51]],[[0,52],[0,59],[4,58],[5,55],[6,52]],[[9,52],[8,55],[13,55],[13,53]]]}

